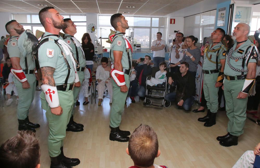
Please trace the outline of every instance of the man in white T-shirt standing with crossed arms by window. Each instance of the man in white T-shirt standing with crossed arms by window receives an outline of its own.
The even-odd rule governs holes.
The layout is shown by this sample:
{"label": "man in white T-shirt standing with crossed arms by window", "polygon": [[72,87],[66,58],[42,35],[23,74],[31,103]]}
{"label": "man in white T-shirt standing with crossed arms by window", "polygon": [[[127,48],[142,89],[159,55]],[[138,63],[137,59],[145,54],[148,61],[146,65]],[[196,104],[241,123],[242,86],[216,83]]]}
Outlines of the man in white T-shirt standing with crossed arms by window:
{"label": "man in white T-shirt standing with crossed arms by window", "polygon": [[152,42],[151,50],[153,51],[153,63],[154,67],[159,67],[159,64],[161,62],[164,62],[165,58],[165,46],[166,42],[165,40],[162,40],[162,33],[158,32],[156,34],[156,40]]}

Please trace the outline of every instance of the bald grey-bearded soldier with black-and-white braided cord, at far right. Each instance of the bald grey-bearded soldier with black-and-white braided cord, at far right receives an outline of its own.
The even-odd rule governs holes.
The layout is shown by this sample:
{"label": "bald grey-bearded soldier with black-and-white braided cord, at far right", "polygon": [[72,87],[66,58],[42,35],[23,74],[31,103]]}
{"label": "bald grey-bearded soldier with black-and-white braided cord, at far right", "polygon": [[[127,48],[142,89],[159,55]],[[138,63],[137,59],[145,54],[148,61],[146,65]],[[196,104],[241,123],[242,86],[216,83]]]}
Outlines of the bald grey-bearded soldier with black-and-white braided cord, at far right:
{"label": "bald grey-bearded soldier with black-and-white braided cord, at far right", "polygon": [[226,54],[224,69],[228,133],[217,137],[222,146],[237,145],[238,136],[244,132],[246,103],[248,93],[255,83],[256,62],[259,56],[256,46],[248,39],[248,24],[239,23],[233,32],[232,39],[236,41]]}

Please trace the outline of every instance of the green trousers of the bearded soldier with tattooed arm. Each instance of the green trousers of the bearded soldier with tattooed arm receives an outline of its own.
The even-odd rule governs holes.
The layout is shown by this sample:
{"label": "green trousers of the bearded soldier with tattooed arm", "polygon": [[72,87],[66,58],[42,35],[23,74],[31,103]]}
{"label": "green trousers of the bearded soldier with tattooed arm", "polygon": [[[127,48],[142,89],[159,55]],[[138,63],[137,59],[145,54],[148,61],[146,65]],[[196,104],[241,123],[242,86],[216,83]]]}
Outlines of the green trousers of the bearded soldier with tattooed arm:
{"label": "green trousers of the bearded soldier with tattooed arm", "polygon": [[66,127],[69,123],[70,114],[73,108],[73,91],[58,91],[60,106],[63,113],[55,115],[51,113],[50,106],[48,105],[44,92],[40,94],[42,108],[46,110],[46,118],[49,122],[49,136],[48,136],[48,150],[50,157],[59,156],[61,153],[60,148],[63,146],[63,140],[66,137]]}

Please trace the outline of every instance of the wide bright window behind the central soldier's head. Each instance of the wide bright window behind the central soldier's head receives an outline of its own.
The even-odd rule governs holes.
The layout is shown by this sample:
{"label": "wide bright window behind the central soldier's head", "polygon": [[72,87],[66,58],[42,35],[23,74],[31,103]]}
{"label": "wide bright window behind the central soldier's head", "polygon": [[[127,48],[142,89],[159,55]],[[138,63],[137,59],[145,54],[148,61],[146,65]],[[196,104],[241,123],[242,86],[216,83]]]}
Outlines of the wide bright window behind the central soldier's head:
{"label": "wide bright window behind the central soldier's head", "polygon": [[[102,38],[107,39],[110,34],[110,29],[114,28],[110,24],[111,16],[99,15],[98,17],[98,36],[101,35]],[[136,16],[125,16],[128,21],[129,29],[126,30],[125,36],[129,36],[131,32],[134,32],[134,39],[137,44],[141,44],[142,50],[150,50],[151,43],[156,40],[156,33],[162,33],[162,39],[166,40],[167,33],[167,18],[165,17],[136,17]],[[106,29],[106,30],[105,30]],[[105,40],[104,40],[105,41]],[[109,48],[109,43],[104,43],[102,45],[105,48]]]}

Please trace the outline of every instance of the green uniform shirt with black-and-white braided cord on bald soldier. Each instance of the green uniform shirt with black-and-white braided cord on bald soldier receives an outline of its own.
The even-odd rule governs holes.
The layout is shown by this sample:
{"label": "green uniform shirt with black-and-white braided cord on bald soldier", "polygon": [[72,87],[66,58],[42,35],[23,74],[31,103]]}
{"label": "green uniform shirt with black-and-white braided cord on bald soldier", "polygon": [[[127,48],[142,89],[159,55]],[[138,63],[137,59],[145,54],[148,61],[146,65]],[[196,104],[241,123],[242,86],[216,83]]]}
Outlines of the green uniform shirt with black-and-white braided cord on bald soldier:
{"label": "green uniform shirt with black-and-white braided cord on bald soldier", "polygon": [[[232,56],[230,56],[230,59],[228,61],[228,57],[229,57],[229,53],[226,54],[226,62],[225,62],[225,69],[224,69],[224,74],[225,75],[228,75],[228,76],[239,76],[241,75],[241,72],[238,72],[236,70],[233,70],[230,66],[229,66],[229,63],[230,65],[233,67],[233,68],[237,68],[237,69],[242,69],[242,62],[243,62],[243,59],[231,59],[232,57],[241,57],[241,56],[244,56],[246,54],[246,49],[248,47],[249,48],[249,51],[252,49],[251,52],[256,52],[256,55],[257,55],[257,51],[255,51],[255,45],[250,41],[250,40],[247,40],[245,43],[243,43],[238,49],[235,50],[237,46],[237,42],[235,41],[233,47],[230,49],[229,53],[231,52],[231,50],[233,50],[233,53],[232,53]],[[253,48],[252,48],[253,47]],[[250,55],[250,54],[249,54]],[[250,56],[249,55],[247,56],[246,59],[248,59],[248,62],[256,62],[256,58],[253,56]],[[229,62],[229,63],[228,63]],[[245,61],[244,63],[244,69],[247,70],[247,60]],[[244,75],[247,74],[247,72],[244,72]]]}

